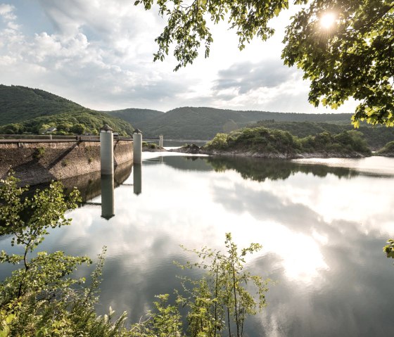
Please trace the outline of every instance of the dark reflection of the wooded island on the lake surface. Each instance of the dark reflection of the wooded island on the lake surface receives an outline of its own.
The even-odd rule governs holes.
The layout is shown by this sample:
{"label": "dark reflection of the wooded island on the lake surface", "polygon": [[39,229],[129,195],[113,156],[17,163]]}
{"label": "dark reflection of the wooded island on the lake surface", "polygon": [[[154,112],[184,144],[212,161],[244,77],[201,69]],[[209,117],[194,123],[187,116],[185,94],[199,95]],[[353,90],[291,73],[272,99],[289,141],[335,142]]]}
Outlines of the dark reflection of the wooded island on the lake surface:
{"label": "dark reflection of the wooded island on the lake surface", "polygon": [[312,173],[317,177],[335,174],[339,178],[351,178],[358,175],[355,170],[345,167],[329,167],[326,165],[302,165],[288,160],[261,158],[208,157],[205,158],[215,171],[235,170],[243,179],[264,182],[265,179],[287,179],[291,174],[303,172]]}

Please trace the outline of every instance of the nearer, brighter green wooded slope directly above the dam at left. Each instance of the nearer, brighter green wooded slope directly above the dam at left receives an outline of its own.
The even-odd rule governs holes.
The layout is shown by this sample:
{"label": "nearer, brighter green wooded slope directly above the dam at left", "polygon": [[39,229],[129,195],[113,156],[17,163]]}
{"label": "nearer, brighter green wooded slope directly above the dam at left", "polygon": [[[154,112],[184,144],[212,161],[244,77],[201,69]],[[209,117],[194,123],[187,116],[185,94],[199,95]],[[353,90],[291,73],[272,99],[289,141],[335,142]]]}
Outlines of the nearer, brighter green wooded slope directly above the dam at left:
{"label": "nearer, brighter green wooded slope directly above the dam at left", "polygon": [[50,132],[51,134],[98,134],[100,128],[105,124],[108,124],[121,136],[131,136],[134,131],[132,125],[120,118],[84,109],[4,125],[0,127],[0,134],[44,134],[51,127],[56,128],[55,131]]}

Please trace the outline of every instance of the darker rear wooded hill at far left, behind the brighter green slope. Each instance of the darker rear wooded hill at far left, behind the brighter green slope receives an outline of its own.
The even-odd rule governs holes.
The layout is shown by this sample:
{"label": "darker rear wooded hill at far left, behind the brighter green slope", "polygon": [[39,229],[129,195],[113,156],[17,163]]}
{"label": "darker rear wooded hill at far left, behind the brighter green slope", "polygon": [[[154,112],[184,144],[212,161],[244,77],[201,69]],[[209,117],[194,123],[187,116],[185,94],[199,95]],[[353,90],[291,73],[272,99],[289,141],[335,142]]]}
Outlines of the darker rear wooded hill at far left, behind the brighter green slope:
{"label": "darker rear wooded hill at far left, behind the brighter green slope", "polygon": [[44,90],[0,84],[0,125],[81,110],[86,108]]}

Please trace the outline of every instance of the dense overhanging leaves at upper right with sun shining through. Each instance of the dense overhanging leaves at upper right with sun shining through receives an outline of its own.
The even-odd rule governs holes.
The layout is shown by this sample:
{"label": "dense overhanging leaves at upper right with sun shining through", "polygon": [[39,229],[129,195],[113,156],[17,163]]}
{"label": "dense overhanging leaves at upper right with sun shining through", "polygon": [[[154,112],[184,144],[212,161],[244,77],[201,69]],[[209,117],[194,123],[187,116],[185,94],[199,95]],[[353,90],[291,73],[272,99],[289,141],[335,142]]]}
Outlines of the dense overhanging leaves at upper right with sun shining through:
{"label": "dense overhanging leaves at upper right with sun shining through", "polygon": [[[324,13],[336,15],[331,29]],[[393,25],[391,0],[314,0],[287,27],[284,63],[311,80],[309,101],[337,108],[360,101],[352,120],[394,126]]]}

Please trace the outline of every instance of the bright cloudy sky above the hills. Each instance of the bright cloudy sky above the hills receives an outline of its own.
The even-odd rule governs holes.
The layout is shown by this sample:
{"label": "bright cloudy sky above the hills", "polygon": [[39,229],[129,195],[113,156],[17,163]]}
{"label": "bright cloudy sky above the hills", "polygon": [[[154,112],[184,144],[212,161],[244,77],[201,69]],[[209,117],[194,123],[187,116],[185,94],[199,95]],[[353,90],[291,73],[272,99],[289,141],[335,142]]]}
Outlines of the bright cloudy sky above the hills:
{"label": "bright cloudy sky above the hills", "polygon": [[165,27],[157,8],[134,0],[0,0],[0,83],[50,91],[95,110],[210,106],[284,113],[352,113],[307,102],[303,72],[281,61],[295,8],[272,20],[268,42],[239,51],[234,30],[210,25],[210,57],[174,72],[170,53],[153,62]]}

